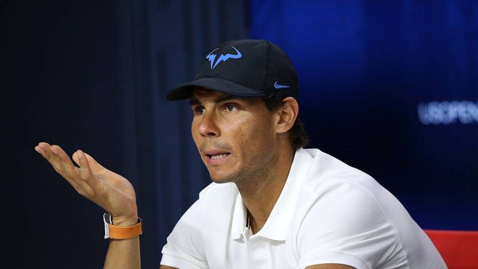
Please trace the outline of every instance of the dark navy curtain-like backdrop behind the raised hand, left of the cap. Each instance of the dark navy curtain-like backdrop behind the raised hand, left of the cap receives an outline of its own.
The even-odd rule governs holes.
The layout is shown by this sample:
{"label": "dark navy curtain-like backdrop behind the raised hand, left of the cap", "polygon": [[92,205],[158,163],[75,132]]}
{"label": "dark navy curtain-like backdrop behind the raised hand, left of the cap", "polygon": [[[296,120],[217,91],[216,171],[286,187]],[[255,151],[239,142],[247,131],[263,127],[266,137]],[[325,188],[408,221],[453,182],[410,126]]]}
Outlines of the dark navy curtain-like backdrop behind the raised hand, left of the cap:
{"label": "dark navy curtain-like backdrop behind the raised hand, left of the cap", "polygon": [[103,209],[59,176],[40,141],[83,149],[136,191],[143,268],[211,182],[187,101],[166,92],[194,77],[210,48],[248,37],[240,0],[1,3],[5,102],[5,268],[102,268]]}

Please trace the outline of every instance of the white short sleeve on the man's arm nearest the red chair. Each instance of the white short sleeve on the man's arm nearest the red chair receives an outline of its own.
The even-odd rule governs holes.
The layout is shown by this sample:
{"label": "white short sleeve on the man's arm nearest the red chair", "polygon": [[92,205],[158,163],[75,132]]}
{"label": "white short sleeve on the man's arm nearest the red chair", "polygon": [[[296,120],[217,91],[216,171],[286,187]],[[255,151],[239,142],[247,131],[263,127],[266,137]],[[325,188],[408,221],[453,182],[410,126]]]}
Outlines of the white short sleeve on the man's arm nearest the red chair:
{"label": "white short sleeve on the man's arm nearest the red chair", "polygon": [[395,228],[378,202],[352,182],[329,186],[298,231],[299,267],[344,264],[372,269],[400,250]]}

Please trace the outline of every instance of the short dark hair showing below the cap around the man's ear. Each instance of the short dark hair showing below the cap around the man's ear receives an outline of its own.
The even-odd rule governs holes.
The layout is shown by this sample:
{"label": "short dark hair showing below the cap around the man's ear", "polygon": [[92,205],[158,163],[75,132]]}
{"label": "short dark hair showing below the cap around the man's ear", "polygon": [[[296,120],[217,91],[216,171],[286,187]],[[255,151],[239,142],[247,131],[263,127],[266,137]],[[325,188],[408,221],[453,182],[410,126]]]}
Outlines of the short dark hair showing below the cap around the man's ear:
{"label": "short dark hair showing below the cap around the man's ear", "polygon": [[[285,102],[282,101],[283,99],[284,98],[281,95],[276,94],[263,100],[268,111],[277,111],[284,105]],[[295,150],[304,147],[309,143],[309,136],[307,135],[307,132],[305,132],[304,123],[302,123],[298,116],[294,125],[288,132],[290,142]]]}

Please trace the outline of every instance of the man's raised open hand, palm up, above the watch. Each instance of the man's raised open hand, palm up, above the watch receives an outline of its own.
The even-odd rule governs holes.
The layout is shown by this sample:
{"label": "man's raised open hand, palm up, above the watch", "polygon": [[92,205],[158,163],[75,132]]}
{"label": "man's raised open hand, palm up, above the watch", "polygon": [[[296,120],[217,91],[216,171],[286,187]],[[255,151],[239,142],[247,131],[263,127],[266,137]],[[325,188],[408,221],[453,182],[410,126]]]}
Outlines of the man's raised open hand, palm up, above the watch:
{"label": "man's raised open hand, palm up, above the watch", "polygon": [[137,223],[136,195],[129,181],[99,164],[92,156],[77,150],[73,160],[58,145],[40,142],[35,150],[51,163],[75,190],[113,216],[115,226]]}

